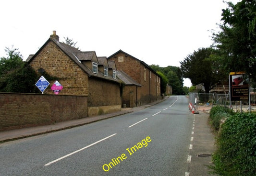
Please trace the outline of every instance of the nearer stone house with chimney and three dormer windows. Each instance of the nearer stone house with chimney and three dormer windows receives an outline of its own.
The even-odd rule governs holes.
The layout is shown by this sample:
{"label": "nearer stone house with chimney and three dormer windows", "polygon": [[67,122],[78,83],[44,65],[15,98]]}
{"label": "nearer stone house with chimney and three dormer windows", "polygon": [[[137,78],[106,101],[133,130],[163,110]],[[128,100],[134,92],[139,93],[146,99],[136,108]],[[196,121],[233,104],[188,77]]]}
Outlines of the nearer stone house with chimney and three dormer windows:
{"label": "nearer stone house with chimney and three dormer windows", "polygon": [[[88,116],[121,110],[121,80],[107,57],[95,51],[82,52],[59,41],[56,31],[27,62],[36,71],[58,77],[61,95],[87,96]],[[54,81],[50,82],[50,86]],[[50,86],[44,94],[53,94]],[[58,96],[58,95],[56,95]]]}

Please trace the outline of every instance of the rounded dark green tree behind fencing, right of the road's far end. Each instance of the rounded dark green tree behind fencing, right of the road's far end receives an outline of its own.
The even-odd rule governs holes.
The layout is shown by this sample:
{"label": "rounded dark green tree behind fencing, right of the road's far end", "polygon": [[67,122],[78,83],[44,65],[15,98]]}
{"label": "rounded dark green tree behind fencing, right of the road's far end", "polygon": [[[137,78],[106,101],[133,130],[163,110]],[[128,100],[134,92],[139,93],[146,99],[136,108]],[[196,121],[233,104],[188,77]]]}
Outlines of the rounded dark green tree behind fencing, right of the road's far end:
{"label": "rounded dark green tree behind fencing, right of the road's far end", "polygon": [[213,61],[209,59],[214,54],[212,48],[200,48],[180,62],[183,77],[189,78],[193,85],[202,84],[206,93],[219,82],[218,70],[213,69]]}

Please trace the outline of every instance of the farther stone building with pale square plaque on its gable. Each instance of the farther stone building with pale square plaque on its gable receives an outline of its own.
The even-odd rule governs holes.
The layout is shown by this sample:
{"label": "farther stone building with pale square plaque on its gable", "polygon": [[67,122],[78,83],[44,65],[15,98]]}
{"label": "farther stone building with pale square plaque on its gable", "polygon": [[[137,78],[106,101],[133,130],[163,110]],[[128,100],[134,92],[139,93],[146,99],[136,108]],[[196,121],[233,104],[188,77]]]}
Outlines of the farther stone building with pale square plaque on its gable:
{"label": "farther stone building with pale square plaque on its gable", "polygon": [[110,55],[107,60],[115,61],[118,77],[129,79],[123,89],[122,105],[134,107],[161,99],[160,76],[145,62],[122,50]]}

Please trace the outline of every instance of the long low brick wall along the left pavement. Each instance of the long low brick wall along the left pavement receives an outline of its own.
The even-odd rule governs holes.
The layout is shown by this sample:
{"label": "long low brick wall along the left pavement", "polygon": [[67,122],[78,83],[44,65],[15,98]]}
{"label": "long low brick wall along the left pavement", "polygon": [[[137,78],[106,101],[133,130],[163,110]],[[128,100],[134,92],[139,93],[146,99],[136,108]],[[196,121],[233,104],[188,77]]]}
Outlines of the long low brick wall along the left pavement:
{"label": "long low brick wall along the left pavement", "polygon": [[0,131],[87,117],[86,96],[0,93]]}

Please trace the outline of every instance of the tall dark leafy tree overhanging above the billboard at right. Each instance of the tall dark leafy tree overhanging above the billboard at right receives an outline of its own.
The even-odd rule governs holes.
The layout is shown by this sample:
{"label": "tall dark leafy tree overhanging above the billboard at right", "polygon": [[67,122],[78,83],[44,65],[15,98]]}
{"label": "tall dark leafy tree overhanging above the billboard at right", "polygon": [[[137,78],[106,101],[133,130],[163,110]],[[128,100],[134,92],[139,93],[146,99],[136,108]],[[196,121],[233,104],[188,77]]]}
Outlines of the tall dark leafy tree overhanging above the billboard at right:
{"label": "tall dark leafy tree overhanging above the billboard at right", "polygon": [[246,71],[256,80],[256,1],[228,2],[221,20],[221,31],[213,33],[219,66],[226,73]]}

